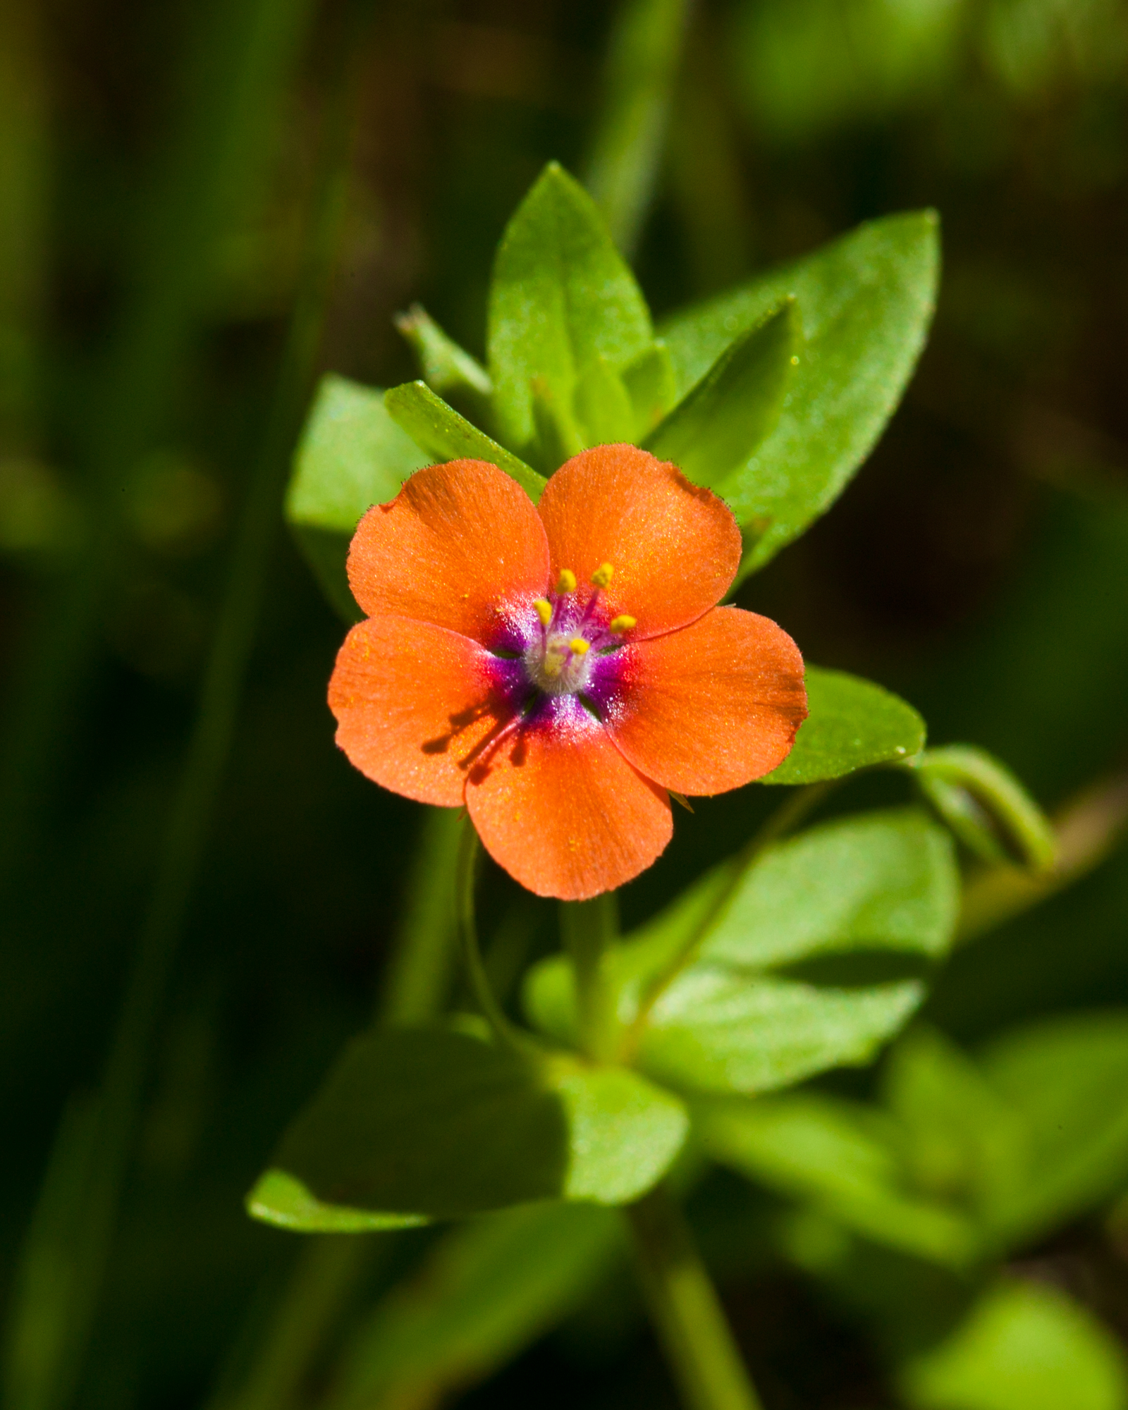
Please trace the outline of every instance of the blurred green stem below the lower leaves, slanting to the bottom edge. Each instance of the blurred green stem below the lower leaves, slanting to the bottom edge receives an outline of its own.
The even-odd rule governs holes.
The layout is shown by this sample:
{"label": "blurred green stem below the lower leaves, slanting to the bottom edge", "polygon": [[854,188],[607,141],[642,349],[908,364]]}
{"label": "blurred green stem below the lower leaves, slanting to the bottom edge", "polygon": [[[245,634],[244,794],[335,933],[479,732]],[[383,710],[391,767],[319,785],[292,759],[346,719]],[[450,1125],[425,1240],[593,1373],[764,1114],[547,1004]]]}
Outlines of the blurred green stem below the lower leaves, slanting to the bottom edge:
{"label": "blurred green stem below the lower leaves, slanting to the bottom edge", "polygon": [[761,1410],[678,1207],[656,1186],[626,1214],[650,1320],[687,1410]]}

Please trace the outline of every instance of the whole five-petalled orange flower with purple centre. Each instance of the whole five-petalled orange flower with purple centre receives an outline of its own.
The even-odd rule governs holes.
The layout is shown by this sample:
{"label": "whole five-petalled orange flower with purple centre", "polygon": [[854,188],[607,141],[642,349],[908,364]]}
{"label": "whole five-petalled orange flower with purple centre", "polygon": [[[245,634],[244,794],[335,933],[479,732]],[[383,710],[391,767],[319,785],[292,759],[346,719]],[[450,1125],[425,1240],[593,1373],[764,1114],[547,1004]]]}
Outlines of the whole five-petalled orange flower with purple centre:
{"label": "whole five-petalled orange flower with purple centre", "polygon": [[728,506],[634,446],[575,455],[537,506],[485,461],[416,471],[348,553],[368,620],[330,681],[337,743],[465,804],[530,891],[619,887],[670,840],[667,788],[760,778],[807,715],[791,637],[716,606],[739,563]]}

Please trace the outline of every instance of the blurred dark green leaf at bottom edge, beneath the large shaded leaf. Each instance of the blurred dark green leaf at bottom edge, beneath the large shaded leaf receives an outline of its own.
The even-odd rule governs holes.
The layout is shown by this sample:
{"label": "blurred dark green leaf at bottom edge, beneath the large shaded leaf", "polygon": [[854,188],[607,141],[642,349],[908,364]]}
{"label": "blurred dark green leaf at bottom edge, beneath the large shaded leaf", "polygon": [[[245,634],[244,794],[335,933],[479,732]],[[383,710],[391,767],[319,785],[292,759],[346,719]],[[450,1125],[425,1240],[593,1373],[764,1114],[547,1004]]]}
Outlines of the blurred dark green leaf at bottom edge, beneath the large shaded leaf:
{"label": "blurred dark green leaf at bottom edge, beneath the large shaded leaf", "polygon": [[622,1234],[591,1204],[534,1204],[454,1230],[361,1325],[326,1410],[436,1404],[482,1380],[582,1300]]}

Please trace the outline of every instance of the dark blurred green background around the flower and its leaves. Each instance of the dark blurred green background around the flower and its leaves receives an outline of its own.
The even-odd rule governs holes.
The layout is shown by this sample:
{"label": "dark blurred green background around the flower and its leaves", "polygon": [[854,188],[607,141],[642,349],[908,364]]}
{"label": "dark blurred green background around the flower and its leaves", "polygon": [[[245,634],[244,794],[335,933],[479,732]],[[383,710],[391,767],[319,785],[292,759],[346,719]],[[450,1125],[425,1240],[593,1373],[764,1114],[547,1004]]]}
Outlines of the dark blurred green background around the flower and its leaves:
{"label": "dark blurred green background around the flower and its leaves", "polygon": [[[651,11],[678,31],[673,0]],[[415,375],[398,310],[422,300],[481,355],[494,245],[544,161],[602,180],[615,219],[616,83],[647,62],[637,35],[615,48],[630,18],[592,0],[0,8],[11,1410],[337,1403],[340,1348],[430,1237],[331,1269],[333,1296],[290,1308],[310,1347],[286,1389],[238,1399],[295,1259],[341,1258],[252,1225],[243,1196],[372,1011],[422,825],[333,747],[341,626],[281,494],[314,372]],[[904,406],[740,601],[812,660],[904,694],[933,742],[998,753],[1048,809],[1097,790],[1081,822],[1101,864],[960,950],[928,1019],[974,1049],[1128,1012],[1128,4],[698,0],[650,82],[633,258],[656,316],[867,217],[940,212],[936,323]],[[897,788],[863,780],[836,807]],[[626,918],[766,807],[746,790],[680,815]],[[553,924],[491,873],[499,987]],[[120,1159],[93,1156],[92,1235],[75,1190],[107,1055]],[[866,1097],[871,1077],[821,1086]],[[1107,1097],[1128,1107],[1128,1084]],[[780,1200],[712,1176],[694,1206],[770,1410],[898,1403],[871,1318],[818,1276],[816,1231],[798,1252],[766,1232]],[[1111,1200],[1015,1266],[1128,1340]],[[89,1306],[76,1249],[79,1283],[104,1270]],[[505,1369],[470,1358],[450,1399],[673,1404],[625,1273],[581,1303]],[[37,1379],[44,1358],[65,1373]]]}

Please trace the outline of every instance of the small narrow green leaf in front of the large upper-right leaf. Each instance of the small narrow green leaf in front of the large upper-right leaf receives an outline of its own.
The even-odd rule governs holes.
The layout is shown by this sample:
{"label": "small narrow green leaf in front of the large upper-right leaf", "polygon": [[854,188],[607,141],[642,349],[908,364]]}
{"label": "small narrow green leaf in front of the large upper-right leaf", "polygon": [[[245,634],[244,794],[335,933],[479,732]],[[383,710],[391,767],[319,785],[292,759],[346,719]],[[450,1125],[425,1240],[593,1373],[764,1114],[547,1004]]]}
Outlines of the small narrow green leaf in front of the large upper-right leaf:
{"label": "small narrow green leaf in front of the large upper-right leaf", "polygon": [[646,440],[698,485],[722,485],[780,419],[798,365],[792,300],[739,334]]}

